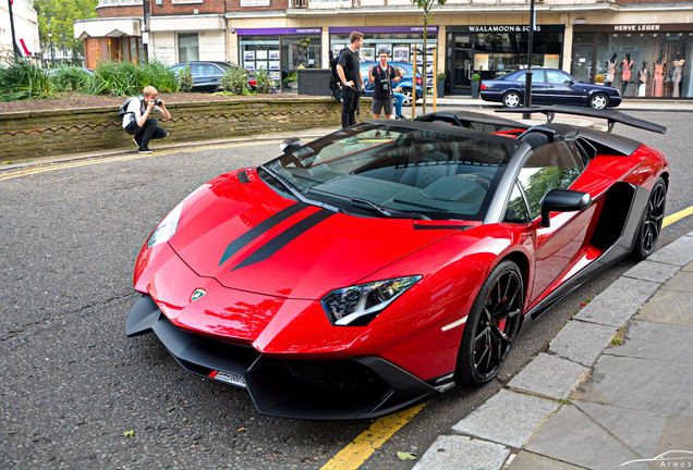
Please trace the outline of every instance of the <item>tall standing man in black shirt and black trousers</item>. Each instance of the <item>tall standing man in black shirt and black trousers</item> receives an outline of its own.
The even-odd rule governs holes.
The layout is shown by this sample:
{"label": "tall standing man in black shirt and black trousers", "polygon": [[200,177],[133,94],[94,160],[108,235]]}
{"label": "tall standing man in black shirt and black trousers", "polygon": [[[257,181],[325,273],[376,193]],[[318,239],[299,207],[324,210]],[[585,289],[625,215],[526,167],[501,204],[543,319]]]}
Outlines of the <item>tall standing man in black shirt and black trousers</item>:
{"label": "tall standing man in black shirt and black trousers", "polygon": [[342,49],[337,61],[337,74],[342,83],[342,128],[356,124],[358,99],[364,90],[361,76],[358,49],[363,46],[363,33],[349,35],[349,47]]}

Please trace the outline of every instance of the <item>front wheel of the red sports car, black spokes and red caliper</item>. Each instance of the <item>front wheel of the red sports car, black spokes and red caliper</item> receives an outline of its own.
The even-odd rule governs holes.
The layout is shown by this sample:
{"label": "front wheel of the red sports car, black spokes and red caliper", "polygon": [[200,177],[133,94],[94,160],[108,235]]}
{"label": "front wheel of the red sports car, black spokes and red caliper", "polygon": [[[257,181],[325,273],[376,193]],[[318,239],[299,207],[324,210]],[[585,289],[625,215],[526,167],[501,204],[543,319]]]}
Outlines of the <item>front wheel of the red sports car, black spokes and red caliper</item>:
{"label": "front wheel of the red sports car, black spokes and red caliper", "polygon": [[454,381],[479,386],[502,367],[518,335],[524,305],[520,268],[500,262],[484,281],[464,325]]}

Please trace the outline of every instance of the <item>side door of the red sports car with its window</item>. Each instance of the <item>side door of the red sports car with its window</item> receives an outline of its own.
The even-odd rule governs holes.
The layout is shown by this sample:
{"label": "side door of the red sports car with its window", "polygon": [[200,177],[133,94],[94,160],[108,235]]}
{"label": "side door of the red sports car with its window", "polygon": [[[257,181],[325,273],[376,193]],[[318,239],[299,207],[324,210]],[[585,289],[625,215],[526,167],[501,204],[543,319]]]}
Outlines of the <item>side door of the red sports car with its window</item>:
{"label": "side door of the red sports car with its window", "polygon": [[540,226],[542,198],[551,189],[567,189],[586,164],[574,141],[556,141],[538,147],[520,170],[508,206],[509,222],[532,221],[535,269],[527,297],[531,304],[550,292],[584,252],[587,227],[594,212],[551,213],[550,226]]}

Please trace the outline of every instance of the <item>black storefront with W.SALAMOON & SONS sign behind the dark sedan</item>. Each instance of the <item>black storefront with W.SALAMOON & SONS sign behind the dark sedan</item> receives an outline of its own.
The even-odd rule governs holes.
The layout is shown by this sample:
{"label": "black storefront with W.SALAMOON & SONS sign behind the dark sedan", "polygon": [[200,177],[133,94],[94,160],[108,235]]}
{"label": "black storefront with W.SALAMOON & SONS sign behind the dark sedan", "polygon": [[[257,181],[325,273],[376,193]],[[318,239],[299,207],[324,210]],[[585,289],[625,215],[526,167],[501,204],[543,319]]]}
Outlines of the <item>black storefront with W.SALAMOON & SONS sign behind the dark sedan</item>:
{"label": "black storefront with W.SALAMOON & SONS sign behind the dark sedan", "polygon": [[[533,35],[532,65],[561,69],[563,25],[537,25]],[[448,26],[446,75],[453,95],[471,92],[471,76],[496,78],[527,66],[527,25]]]}

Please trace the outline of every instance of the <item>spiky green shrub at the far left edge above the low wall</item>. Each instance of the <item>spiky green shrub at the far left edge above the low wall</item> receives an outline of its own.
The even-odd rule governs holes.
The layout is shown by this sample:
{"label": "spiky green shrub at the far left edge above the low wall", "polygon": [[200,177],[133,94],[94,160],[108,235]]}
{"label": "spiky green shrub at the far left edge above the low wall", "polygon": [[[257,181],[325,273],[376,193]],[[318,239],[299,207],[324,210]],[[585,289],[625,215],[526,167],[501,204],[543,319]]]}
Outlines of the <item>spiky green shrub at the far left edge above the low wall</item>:
{"label": "spiky green shrub at the far left edge above the low wall", "polygon": [[11,59],[0,69],[0,101],[58,98],[48,73],[26,59]]}

